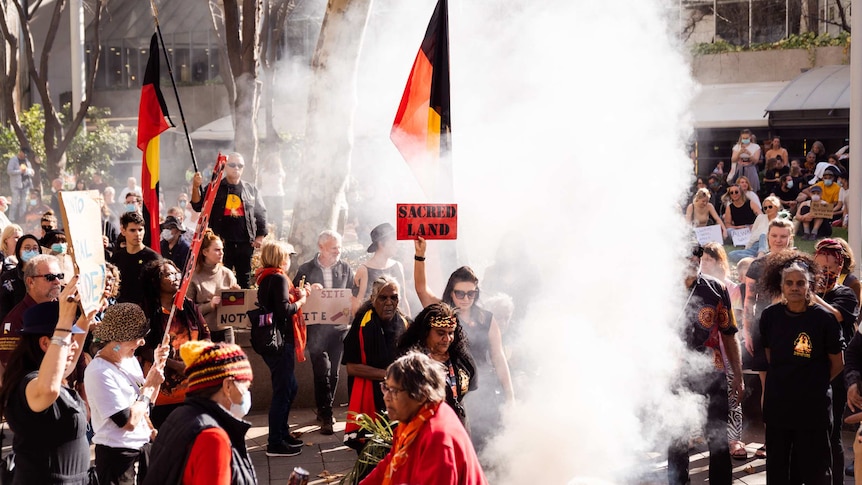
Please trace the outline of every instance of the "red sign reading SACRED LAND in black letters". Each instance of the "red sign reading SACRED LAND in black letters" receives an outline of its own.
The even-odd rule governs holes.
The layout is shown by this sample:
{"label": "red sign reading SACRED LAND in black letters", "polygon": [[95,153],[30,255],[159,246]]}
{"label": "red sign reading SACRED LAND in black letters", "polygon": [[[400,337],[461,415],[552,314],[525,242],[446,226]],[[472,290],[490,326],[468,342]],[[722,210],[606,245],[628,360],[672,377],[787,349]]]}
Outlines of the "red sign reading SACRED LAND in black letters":
{"label": "red sign reading SACRED LAND in black letters", "polygon": [[398,204],[398,239],[458,239],[458,204]]}

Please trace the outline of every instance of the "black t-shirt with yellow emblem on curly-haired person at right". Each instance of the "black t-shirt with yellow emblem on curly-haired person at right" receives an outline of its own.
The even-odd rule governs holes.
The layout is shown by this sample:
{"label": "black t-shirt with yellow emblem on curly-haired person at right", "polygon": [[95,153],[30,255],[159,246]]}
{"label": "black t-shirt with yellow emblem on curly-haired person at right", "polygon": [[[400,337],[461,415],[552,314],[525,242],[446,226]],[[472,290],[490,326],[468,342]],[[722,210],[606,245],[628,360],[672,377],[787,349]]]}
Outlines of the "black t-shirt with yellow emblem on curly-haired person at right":
{"label": "black t-shirt with yellow emblem on curly-haired person at right", "polygon": [[763,397],[768,426],[824,429],[831,419],[829,354],[844,347],[841,326],[820,305],[793,313],[770,305],[760,316],[763,346],[770,351]]}

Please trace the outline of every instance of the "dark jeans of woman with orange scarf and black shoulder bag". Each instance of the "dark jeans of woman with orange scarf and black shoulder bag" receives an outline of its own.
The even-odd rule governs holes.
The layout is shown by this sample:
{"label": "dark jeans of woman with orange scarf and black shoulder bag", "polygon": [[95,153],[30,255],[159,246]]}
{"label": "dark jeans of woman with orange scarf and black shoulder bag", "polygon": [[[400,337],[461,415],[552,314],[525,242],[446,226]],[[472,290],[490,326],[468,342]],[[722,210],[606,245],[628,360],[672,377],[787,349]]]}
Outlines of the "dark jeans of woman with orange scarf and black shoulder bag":
{"label": "dark jeans of woman with orange scarf and black shoulder bag", "polygon": [[296,355],[293,342],[284,343],[281,355],[264,355],[272,376],[272,403],[269,406],[269,445],[280,445],[289,435],[287,418],[299,387],[296,383]]}

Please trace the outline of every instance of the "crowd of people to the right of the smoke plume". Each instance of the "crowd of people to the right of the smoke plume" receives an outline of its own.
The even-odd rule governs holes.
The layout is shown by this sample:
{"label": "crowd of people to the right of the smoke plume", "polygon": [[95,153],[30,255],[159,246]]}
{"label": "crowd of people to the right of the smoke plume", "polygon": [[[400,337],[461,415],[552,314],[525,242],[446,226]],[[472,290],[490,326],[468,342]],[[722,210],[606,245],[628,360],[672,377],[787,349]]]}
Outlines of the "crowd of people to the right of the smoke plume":
{"label": "crowd of people to the right of the smoke plume", "polygon": [[[758,375],[749,384],[759,383],[760,392],[749,395],[766,436],[755,456],[766,460],[768,483],[841,484],[845,473],[862,483],[862,470],[844,463],[841,439],[845,422],[862,421],[862,414],[848,417],[862,411],[862,285],[854,251],[832,236],[849,221],[849,154],[830,155],[814,142],[800,162],[778,137],[768,146],[743,130],[730,170],[722,162],[698,178],[682,212],[694,228],[719,226],[724,238],[701,244],[693,231],[689,297],[678,322],[687,347],[711,363],[683,384],[707,402],[710,482],[731,483],[731,460],[749,458],[740,373],[750,373]],[[746,237],[734,239],[740,230]],[[815,241],[811,254],[794,238]],[[737,248],[727,252],[725,243]],[[670,483],[687,483],[687,439],[668,449]],[[854,461],[862,459],[862,446],[853,447]]]}

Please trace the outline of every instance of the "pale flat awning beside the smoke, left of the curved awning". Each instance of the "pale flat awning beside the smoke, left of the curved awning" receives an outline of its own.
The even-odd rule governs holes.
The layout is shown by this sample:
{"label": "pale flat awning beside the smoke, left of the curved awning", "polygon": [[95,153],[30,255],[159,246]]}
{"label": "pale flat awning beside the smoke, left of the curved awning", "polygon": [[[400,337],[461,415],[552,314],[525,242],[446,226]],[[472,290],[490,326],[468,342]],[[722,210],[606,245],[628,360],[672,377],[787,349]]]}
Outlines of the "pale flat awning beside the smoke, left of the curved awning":
{"label": "pale flat awning beside the smoke, left of the curved awning", "polygon": [[769,126],[766,106],[789,83],[703,85],[691,104],[695,128]]}

